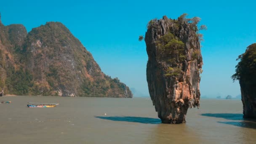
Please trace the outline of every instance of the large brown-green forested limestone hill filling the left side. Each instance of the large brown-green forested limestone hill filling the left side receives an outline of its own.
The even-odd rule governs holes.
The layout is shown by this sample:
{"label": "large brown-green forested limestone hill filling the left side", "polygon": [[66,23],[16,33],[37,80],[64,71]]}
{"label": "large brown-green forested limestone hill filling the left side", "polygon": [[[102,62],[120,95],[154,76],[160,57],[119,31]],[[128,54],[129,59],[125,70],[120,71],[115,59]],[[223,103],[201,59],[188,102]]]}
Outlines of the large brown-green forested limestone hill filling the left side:
{"label": "large brown-green forested limestone hill filling the left side", "polygon": [[5,94],[132,97],[118,78],[101,72],[91,53],[60,22],[27,33],[21,24],[4,26],[0,21],[0,75]]}

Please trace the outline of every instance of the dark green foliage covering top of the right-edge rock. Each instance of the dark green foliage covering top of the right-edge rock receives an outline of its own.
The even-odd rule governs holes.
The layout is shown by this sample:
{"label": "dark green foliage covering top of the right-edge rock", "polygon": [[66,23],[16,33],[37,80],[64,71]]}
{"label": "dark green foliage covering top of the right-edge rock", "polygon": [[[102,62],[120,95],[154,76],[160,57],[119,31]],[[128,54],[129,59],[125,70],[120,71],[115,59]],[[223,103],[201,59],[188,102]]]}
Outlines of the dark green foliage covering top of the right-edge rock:
{"label": "dark green foliage covering top of the right-edge rock", "polygon": [[249,85],[256,85],[256,43],[249,45],[245,53],[238,56],[237,60],[240,61],[232,79],[243,81]]}

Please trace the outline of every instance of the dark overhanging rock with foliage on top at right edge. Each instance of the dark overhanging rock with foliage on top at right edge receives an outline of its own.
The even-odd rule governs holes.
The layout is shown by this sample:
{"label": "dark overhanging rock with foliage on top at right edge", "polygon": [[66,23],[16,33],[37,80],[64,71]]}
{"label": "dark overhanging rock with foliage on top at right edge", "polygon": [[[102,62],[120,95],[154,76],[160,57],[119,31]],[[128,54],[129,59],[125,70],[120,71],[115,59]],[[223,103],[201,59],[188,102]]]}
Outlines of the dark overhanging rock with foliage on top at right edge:
{"label": "dark overhanging rock with foliage on top at right edge", "polygon": [[245,118],[256,118],[256,43],[238,56],[233,80],[239,80]]}

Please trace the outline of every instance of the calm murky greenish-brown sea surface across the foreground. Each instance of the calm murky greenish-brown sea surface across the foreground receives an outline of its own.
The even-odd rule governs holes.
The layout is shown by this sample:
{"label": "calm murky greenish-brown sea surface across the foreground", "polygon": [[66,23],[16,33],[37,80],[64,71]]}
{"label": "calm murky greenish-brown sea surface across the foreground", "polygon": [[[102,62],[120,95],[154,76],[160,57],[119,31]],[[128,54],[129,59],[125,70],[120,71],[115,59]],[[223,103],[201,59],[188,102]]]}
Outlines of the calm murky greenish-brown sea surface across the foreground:
{"label": "calm murky greenish-brown sea surface across the foreground", "polygon": [[[147,98],[4,96],[1,144],[255,144],[256,122],[243,120],[240,100],[202,99],[187,123],[161,124]],[[59,103],[28,108],[27,102]],[[106,114],[106,115],[105,115]]]}

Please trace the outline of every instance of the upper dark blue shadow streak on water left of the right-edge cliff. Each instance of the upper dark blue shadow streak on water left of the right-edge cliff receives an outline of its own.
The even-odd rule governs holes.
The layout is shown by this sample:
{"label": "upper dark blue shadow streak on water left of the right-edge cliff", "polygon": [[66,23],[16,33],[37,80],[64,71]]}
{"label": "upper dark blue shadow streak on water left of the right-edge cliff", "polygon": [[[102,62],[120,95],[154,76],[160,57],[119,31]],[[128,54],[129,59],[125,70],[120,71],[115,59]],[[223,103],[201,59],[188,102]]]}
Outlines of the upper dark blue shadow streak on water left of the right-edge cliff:
{"label": "upper dark blue shadow streak on water left of the right-edge cliff", "polygon": [[227,120],[244,120],[243,114],[232,114],[232,113],[205,113],[201,114],[202,116],[206,117],[218,117],[218,118],[224,118]]}

